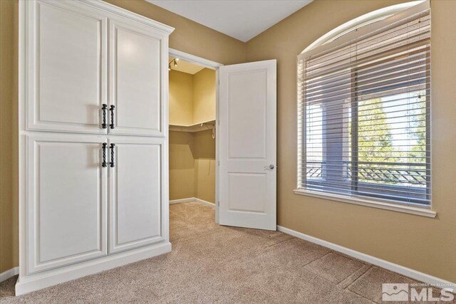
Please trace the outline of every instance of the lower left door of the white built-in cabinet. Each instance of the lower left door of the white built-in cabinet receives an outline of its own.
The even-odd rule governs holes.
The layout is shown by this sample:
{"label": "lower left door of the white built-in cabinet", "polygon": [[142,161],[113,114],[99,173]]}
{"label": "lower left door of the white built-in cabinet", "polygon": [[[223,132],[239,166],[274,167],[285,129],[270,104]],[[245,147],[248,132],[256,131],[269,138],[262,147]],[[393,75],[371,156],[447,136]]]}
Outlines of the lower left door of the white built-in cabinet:
{"label": "lower left door of the white built-in cabinet", "polygon": [[106,137],[28,135],[27,273],[105,256]]}

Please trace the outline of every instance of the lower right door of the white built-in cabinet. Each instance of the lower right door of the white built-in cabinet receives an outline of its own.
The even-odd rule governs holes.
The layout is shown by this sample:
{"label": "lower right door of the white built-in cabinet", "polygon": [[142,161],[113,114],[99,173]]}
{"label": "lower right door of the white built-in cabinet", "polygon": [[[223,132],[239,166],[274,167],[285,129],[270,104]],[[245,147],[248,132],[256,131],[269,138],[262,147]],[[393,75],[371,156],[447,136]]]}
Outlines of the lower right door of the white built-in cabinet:
{"label": "lower right door of the white built-in cabinet", "polygon": [[162,138],[111,138],[109,252],[165,240],[162,227]]}

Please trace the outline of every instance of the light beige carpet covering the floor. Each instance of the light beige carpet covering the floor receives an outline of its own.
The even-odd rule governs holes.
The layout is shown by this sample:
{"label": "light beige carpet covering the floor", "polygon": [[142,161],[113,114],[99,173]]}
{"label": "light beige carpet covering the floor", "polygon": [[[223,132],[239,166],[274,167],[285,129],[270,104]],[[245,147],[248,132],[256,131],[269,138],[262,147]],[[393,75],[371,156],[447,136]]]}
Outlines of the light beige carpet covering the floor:
{"label": "light beige carpet covering the floor", "polygon": [[170,206],[172,252],[0,303],[380,303],[385,269],[274,231],[214,223],[199,203]]}

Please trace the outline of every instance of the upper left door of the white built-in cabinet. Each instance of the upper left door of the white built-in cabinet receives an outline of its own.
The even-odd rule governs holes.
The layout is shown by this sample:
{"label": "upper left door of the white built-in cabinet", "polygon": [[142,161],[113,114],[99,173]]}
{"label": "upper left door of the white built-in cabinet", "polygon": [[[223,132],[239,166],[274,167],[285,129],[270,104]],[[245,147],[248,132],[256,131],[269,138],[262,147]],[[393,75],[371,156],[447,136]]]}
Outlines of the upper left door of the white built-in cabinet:
{"label": "upper left door of the white built-in cabinet", "polygon": [[26,10],[26,129],[106,133],[107,18],[78,1]]}

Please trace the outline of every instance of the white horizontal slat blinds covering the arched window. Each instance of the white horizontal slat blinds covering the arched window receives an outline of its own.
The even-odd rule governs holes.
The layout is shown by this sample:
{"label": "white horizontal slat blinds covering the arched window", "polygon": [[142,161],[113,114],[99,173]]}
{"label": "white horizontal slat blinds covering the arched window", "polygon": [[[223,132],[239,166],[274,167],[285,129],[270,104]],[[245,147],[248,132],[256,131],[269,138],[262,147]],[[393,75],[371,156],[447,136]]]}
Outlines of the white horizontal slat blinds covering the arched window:
{"label": "white horizontal slat blinds covering the arched window", "polygon": [[298,187],[430,206],[430,11],[298,58]]}

